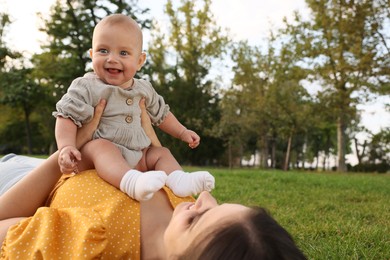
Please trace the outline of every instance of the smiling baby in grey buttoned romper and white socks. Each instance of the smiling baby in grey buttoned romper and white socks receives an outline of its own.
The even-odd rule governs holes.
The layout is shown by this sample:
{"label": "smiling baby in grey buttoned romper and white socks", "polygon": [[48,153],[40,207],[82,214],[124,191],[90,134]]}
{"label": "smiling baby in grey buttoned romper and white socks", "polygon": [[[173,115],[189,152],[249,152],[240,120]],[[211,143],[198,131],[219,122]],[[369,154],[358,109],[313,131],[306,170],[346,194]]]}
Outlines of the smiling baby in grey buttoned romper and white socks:
{"label": "smiling baby in grey buttoned romper and white socks", "polygon": [[[176,119],[148,81],[134,78],[146,59],[142,38],[138,24],[122,14],[107,16],[96,25],[90,50],[94,73],[75,79],[53,112],[61,171],[86,170],[90,165],[84,161],[90,160],[101,178],[136,200],[150,199],[164,185],[182,197],[210,191],[215,180],[209,172],[186,173],[166,148],[149,148],[151,141],[140,117],[143,98],[152,123],[161,130],[191,148],[199,145],[200,137]],[[77,127],[92,119],[101,99],[107,105],[94,140],[79,151]],[[115,146],[96,145],[98,140]],[[145,158],[147,149],[153,149],[153,156]],[[143,160],[155,171],[138,171]]]}

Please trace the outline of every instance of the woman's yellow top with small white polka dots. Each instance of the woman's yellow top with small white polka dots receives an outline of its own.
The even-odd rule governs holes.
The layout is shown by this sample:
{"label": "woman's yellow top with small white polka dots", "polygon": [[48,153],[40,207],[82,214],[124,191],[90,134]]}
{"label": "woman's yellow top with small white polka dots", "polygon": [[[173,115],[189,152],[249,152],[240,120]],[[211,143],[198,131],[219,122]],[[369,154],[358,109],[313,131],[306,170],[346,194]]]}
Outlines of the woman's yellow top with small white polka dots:
{"label": "woman's yellow top with small white polka dots", "polygon": [[[172,204],[193,201],[164,188]],[[90,170],[63,180],[50,207],[12,226],[1,259],[140,259],[140,205]]]}

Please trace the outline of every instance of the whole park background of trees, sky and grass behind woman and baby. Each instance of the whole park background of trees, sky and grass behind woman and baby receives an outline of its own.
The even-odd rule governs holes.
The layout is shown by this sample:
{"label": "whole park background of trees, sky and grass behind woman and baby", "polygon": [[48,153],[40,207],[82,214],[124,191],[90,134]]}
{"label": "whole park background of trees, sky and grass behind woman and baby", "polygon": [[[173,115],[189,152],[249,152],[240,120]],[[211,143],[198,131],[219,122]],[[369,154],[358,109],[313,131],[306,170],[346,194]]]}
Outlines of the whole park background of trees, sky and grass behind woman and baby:
{"label": "whole park background of trees, sky and grass behind woman and baby", "polygon": [[90,69],[93,25],[126,13],[144,27],[138,76],[202,143],[158,134],[213,173],[219,202],[268,208],[309,259],[389,259],[385,0],[0,3],[0,154],[55,149],[51,112]]}

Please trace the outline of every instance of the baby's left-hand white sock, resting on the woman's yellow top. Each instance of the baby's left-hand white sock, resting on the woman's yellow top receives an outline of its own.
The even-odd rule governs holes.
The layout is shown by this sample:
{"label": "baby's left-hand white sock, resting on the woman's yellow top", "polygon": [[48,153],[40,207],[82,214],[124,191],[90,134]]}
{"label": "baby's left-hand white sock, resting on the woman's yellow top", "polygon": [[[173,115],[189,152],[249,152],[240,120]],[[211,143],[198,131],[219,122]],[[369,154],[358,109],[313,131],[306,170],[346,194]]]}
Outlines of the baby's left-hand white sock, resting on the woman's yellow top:
{"label": "baby's left-hand white sock, resting on the woman's yellow top", "polygon": [[138,201],[149,200],[165,185],[166,179],[163,171],[129,170],[121,180],[120,190]]}

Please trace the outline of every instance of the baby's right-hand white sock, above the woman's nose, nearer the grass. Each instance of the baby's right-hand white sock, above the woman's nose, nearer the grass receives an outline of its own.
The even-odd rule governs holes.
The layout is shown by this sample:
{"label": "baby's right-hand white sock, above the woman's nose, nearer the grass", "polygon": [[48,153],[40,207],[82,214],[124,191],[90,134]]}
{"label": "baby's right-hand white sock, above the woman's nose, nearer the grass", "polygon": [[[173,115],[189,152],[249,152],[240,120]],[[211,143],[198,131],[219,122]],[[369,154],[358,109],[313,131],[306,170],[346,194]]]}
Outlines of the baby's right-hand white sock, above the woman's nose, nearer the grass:
{"label": "baby's right-hand white sock, above the woman's nose, nearer the grass", "polygon": [[206,171],[187,173],[181,170],[168,175],[166,185],[179,197],[199,194],[214,189],[215,179]]}

